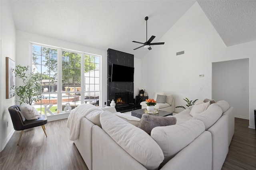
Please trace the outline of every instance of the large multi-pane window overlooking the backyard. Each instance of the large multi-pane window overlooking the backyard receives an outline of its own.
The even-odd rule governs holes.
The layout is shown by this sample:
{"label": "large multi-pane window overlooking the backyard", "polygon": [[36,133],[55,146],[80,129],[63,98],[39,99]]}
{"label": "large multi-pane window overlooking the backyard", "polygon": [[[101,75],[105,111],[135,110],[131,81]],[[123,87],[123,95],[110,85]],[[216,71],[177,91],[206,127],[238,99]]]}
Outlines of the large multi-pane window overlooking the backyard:
{"label": "large multi-pane window overlooking the backyard", "polygon": [[42,74],[42,99],[34,107],[42,114],[70,112],[88,103],[99,106],[100,56],[31,44],[32,68]]}

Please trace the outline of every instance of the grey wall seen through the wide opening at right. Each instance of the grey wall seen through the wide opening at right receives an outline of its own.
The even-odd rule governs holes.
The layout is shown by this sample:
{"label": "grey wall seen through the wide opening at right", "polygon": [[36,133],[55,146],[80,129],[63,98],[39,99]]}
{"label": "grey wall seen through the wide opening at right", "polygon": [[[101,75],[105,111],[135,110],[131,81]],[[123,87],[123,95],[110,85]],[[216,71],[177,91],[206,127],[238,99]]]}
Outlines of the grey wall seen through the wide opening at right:
{"label": "grey wall seen through the wide opening at right", "polygon": [[249,119],[249,59],[212,63],[212,98],[228,101],[235,117]]}

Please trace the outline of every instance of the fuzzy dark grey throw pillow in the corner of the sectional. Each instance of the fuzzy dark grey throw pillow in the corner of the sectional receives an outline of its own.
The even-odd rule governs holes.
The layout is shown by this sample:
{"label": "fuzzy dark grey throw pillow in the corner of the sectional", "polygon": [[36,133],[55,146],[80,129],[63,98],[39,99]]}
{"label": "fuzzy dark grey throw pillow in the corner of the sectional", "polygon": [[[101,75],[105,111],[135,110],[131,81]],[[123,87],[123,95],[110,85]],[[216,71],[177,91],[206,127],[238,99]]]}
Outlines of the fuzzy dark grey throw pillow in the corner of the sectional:
{"label": "fuzzy dark grey throw pillow in the corner of the sectional", "polygon": [[151,130],[154,127],[175,125],[176,122],[177,119],[173,116],[161,117],[156,115],[143,114],[142,117],[140,118],[138,128],[144,130],[146,133],[150,135]]}

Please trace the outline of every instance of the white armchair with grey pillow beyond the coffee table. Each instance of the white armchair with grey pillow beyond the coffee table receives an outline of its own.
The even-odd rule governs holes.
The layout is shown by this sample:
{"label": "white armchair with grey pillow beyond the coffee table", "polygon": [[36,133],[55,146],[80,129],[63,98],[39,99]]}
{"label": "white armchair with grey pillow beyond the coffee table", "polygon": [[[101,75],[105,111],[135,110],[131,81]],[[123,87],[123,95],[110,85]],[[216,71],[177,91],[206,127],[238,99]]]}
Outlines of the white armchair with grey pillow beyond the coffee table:
{"label": "white armchair with grey pillow beyond the coffee table", "polygon": [[[156,100],[157,95],[164,95],[166,96],[166,100],[164,103],[158,103]],[[154,100],[156,100],[156,105],[154,106],[155,109],[164,110],[168,112],[174,112],[175,104],[174,104],[174,98],[172,94],[165,95],[164,93],[154,93]],[[147,107],[146,101],[140,103],[141,108],[145,109]]]}

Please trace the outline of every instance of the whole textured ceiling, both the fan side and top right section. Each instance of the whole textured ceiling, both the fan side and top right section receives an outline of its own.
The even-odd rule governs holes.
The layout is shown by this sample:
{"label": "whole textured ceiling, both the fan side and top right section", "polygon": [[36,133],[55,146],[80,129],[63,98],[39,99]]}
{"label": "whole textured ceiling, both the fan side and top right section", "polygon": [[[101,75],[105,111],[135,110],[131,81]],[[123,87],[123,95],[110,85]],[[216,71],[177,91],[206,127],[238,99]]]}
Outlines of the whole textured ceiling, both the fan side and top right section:
{"label": "whole textured ceiling, both the fan side and top right section", "polygon": [[[108,48],[141,58],[148,49],[132,41],[158,40],[195,3],[195,0],[11,0],[16,29],[77,43]],[[198,0],[227,46],[256,40],[256,1]],[[158,48],[158,45],[152,46]]]}

